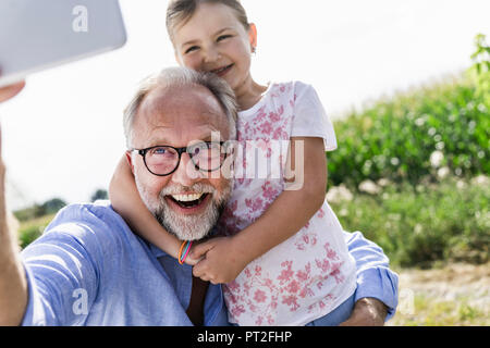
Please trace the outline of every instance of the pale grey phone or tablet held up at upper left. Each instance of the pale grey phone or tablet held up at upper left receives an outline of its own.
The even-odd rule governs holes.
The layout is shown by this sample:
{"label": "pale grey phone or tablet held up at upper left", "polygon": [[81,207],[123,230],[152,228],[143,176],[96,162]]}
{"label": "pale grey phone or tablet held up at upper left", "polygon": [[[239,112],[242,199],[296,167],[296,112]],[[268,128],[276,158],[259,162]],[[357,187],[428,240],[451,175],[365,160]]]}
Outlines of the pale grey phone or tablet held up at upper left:
{"label": "pale grey phone or tablet held up at upper left", "polygon": [[118,0],[1,0],[0,87],[125,42]]}

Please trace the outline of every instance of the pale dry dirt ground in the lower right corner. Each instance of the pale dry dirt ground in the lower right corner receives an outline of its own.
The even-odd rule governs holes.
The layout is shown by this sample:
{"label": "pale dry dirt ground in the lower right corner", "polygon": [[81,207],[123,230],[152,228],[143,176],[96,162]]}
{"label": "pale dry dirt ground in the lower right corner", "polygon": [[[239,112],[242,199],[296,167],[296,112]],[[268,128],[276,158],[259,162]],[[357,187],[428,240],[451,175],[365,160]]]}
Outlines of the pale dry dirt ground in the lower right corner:
{"label": "pale dry dirt ground in the lower right corner", "polygon": [[397,273],[397,313],[387,325],[490,325],[490,263]]}

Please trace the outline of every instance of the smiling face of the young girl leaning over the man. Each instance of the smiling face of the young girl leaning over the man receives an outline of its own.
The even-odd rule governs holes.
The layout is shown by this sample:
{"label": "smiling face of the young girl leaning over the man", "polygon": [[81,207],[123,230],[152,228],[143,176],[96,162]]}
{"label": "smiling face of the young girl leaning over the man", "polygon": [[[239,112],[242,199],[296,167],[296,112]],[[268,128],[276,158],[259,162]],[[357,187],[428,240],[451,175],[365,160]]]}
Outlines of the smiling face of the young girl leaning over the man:
{"label": "smiling face of the young girl leaning over the man", "polygon": [[221,3],[203,3],[173,32],[179,64],[224,78],[236,92],[250,77],[250,53],[257,32],[247,32],[234,10]]}

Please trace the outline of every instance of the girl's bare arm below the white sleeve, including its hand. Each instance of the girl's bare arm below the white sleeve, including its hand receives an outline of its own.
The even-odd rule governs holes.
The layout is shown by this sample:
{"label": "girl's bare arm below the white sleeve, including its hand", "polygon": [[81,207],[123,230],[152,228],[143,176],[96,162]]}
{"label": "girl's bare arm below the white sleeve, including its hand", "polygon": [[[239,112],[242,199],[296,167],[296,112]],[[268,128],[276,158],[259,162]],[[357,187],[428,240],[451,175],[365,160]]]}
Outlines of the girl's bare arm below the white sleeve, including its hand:
{"label": "girl's bare arm below the white sleeve, including its hand", "polygon": [[[298,142],[302,141],[302,142]],[[303,144],[302,158],[295,157]],[[197,245],[193,259],[206,258],[194,266],[194,275],[213,284],[230,283],[256,258],[295,235],[321,208],[327,188],[327,158],[322,138],[291,138],[290,159],[295,173],[285,189],[252,225],[232,237],[216,238]],[[302,185],[303,184],[303,185]]]}

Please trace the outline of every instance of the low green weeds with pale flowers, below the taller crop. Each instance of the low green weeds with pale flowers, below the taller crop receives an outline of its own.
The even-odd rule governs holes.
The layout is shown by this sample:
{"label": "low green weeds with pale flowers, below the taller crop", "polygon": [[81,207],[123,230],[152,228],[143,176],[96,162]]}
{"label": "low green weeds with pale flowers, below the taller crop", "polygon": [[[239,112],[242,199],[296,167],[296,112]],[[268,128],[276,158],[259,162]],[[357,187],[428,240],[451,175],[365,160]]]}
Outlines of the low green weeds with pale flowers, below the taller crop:
{"label": "low green weeds with pale flowers, below the taller crop", "polygon": [[391,185],[331,203],[346,231],[360,231],[394,264],[489,261],[490,185],[448,178],[437,185]]}

